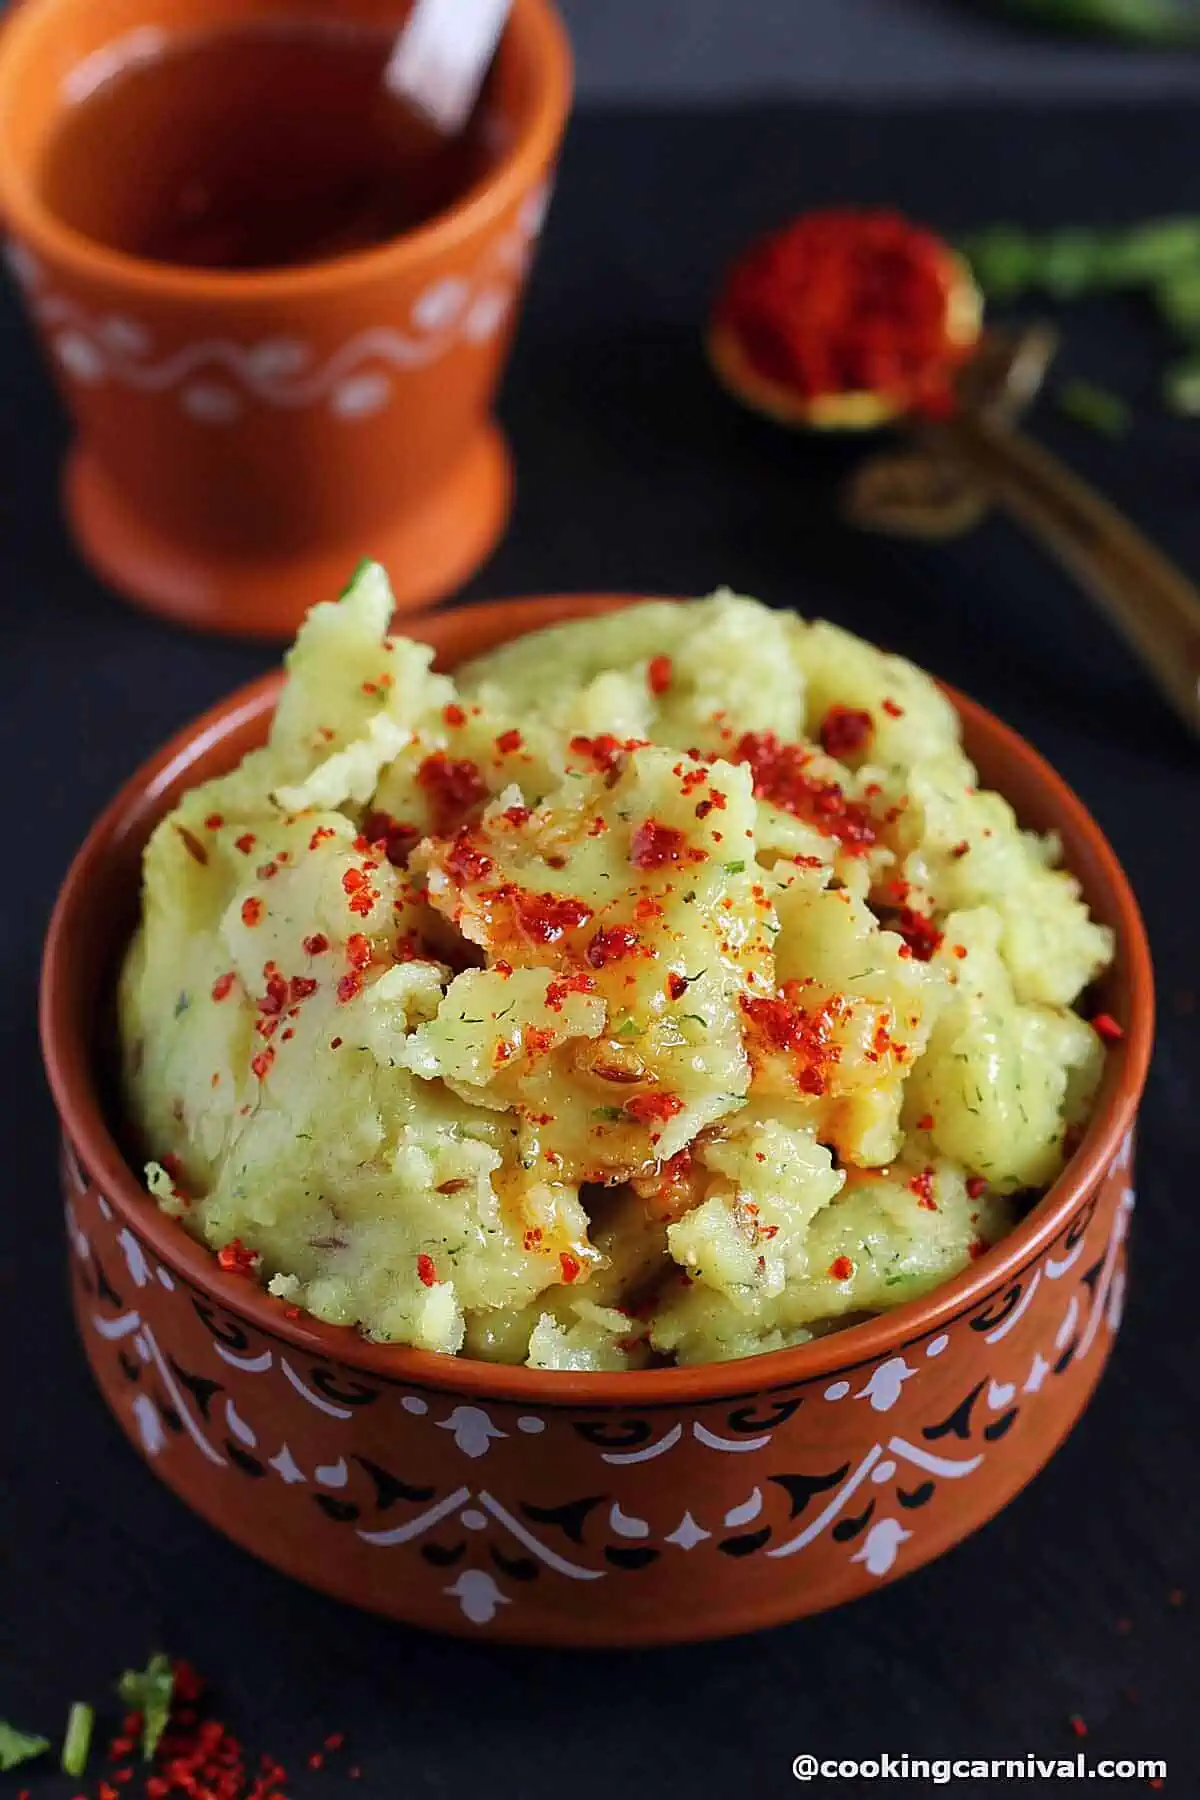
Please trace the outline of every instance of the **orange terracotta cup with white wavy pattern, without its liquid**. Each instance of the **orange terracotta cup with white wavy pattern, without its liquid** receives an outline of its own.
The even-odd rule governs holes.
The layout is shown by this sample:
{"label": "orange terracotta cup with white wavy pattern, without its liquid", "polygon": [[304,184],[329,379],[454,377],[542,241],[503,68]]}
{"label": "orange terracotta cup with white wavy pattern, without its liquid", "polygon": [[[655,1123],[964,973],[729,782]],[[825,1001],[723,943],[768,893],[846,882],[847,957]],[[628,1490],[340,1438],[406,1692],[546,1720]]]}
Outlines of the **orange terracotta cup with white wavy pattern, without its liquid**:
{"label": "orange terracotta cup with white wavy pattern, without its liquid", "polygon": [[[340,0],[338,16],[399,27],[407,9]],[[0,216],[76,427],[70,527],[113,589],[194,626],[290,635],[367,554],[401,610],[426,605],[509,515],[491,401],[570,103],[551,0],[515,0],[488,90],[491,171],[380,248],[203,272],[108,250],[43,203],[47,144],[103,59],[327,11],[23,0],[0,32]]]}

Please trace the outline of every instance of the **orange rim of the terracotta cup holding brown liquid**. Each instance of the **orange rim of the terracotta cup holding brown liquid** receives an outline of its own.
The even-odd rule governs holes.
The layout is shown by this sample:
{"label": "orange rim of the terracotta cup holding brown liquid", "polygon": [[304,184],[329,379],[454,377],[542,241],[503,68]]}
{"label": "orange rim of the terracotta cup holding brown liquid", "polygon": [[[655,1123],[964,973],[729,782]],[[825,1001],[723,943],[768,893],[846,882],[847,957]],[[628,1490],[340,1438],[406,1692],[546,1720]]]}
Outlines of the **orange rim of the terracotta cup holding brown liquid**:
{"label": "orange rim of the terracotta cup holding brown liquid", "polygon": [[112,250],[86,232],[65,225],[43,205],[34,184],[7,155],[4,140],[4,90],[22,76],[22,52],[52,5],[70,0],[25,0],[13,5],[0,25],[0,209],[5,232],[31,248],[58,257],[86,275],[103,275],[139,295],[178,301],[272,301],[327,293],[345,283],[396,274],[414,263],[453,250],[464,238],[489,225],[529,189],[554,160],[554,149],[570,110],[574,61],[570,40],[554,0],[515,0],[507,31],[527,36],[536,65],[533,113],[500,160],[457,202],[414,230],[371,250],[331,257],[300,268],[203,270]]}

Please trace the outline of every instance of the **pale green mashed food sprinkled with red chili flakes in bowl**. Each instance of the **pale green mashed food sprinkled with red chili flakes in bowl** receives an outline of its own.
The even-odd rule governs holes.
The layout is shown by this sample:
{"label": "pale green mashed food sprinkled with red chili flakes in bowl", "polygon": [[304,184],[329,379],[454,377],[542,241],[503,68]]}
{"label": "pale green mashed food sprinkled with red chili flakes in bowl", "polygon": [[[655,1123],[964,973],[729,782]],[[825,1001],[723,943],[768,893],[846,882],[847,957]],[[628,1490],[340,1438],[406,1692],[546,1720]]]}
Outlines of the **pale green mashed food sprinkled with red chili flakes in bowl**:
{"label": "pale green mashed food sprinkled with red chili flakes in bowl", "polygon": [[121,986],[160,1204],[369,1337],[750,1355],[925,1292],[1063,1165],[1110,961],[912,664],[730,592],[452,680],[376,565],[158,826]]}

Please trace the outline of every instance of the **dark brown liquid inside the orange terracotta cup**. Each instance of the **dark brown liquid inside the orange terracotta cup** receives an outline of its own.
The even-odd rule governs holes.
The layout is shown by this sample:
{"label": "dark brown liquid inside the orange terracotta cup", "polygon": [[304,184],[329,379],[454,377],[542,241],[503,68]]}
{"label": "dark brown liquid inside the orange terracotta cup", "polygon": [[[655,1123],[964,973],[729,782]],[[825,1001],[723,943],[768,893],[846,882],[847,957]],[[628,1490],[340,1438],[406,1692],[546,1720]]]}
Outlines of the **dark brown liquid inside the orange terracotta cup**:
{"label": "dark brown liquid inside the orange terracotta cup", "polygon": [[175,40],[67,110],[41,198],[106,248],[185,268],[291,268],[387,243],[495,158],[486,97],[446,140],[389,94],[392,45],[318,20]]}

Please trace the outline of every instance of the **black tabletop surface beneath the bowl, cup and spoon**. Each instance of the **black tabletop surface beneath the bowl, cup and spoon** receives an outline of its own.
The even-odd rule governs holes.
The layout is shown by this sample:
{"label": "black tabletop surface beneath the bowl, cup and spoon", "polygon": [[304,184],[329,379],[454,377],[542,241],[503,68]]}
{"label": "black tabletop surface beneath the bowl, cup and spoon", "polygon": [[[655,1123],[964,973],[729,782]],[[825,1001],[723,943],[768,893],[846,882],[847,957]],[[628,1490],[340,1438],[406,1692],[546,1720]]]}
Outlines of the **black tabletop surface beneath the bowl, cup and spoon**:
{"label": "black tabletop surface beneath the bowl, cup and spoon", "polygon": [[[497,1651],[356,1616],[193,1519],[95,1399],[65,1300],[34,1044],[40,936],[101,803],[272,653],[126,612],[77,567],[56,511],[61,423],[14,302],[0,302],[2,1715],[54,1735],[70,1699],[99,1699],[119,1669],[166,1645],[221,1688],[248,1744],[297,1771],[299,1800],[342,1787],[304,1768],[331,1730],[349,1733],[363,1766],[360,1787],[342,1791],[363,1800],[608,1800],[664,1782],[732,1800],[795,1791],[788,1769],[802,1750],[1070,1755],[1070,1714],[1088,1723],[1088,1753],[1168,1757],[1171,1791],[1200,1791],[1196,747],[1006,524],[945,547],[838,526],[849,452],[738,416],[705,376],[696,335],[723,257],[788,209],[885,198],[948,230],[995,216],[1133,220],[1196,203],[1193,133],[1191,110],[1168,106],[756,106],[720,122],[594,113],[569,142],[504,400],[516,517],[471,596],[729,581],[907,652],[1009,718],[1081,792],[1132,873],[1160,977],[1130,1309],[1087,1418],[954,1555],[736,1645]],[[1043,407],[1036,428],[1200,571],[1200,423],[1159,412],[1157,326],[1117,299],[1074,310],[1069,329],[1065,369],[1121,389],[1135,423],[1110,445]],[[1169,1604],[1175,1589],[1182,1604]],[[81,1786],[36,1769],[9,1786],[34,1800]]]}

